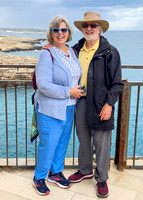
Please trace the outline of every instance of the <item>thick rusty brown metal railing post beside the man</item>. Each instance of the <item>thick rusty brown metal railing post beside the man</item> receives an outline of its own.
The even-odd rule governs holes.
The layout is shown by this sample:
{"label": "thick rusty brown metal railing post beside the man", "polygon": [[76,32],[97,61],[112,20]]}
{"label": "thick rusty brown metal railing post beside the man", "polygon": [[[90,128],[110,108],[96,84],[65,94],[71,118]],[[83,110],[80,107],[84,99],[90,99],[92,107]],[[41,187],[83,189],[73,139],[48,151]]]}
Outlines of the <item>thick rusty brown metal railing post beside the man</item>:
{"label": "thick rusty brown metal railing post beside the man", "polygon": [[122,171],[126,167],[130,112],[130,87],[127,80],[123,80],[123,83],[123,93],[119,97],[118,103],[116,149],[114,159],[114,162],[117,165],[118,170],[120,171]]}

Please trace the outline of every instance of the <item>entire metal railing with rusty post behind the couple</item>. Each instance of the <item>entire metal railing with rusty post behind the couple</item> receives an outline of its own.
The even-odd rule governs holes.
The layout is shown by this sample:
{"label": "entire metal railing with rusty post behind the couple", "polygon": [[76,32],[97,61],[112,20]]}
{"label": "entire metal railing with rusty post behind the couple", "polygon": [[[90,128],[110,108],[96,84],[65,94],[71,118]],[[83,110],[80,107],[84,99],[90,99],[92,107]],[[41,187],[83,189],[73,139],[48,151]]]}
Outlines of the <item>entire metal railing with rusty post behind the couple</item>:
{"label": "entire metal railing with rusty post behind the couple", "polygon": [[[0,65],[0,68],[34,68],[34,65]],[[128,69],[143,69],[143,66],[122,66],[122,68]],[[124,168],[143,168],[143,164],[136,164],[136,161],[141,160],[142,156],[136,156],[136,145],[137,145],[137,128],[138,128],[138,119],[139,119],[139,102],[140,102],[140,91],[143,86],[143,82],[128,82],[127,80],[123,80],[124,82],[124,91],[123,94],[119,97],[118,101],[118,112],[117,112],[117,128],[116,128],[116,145],[115,145],[115,164],[117,165],[119,170],[123,170]],[[137,87],[137,100],[136,100],[136,115],[135,115],[135,130],[134,130],[134,144],[133,144],[133,156],[127,156],[127,149],[128,149],[128,135],[129,135],[129,126],[130,126],[130,108],[132,106],[131,102],[131,88]],[[14,92],[14,113],[13,113],[13,126],[15,130],[12,133],[9,132],[9,110],[8,107],[8,90],[9,88],[13,89]],[[19,144],[19,102],[18,102],[18,91],[23,88],[23,106],[24,111],[20,111],[23,113],[23,122],[24,122],[24,143]],[[34,167],[36,163],[36,156],[37,156],[37,140],[34,144],[29,144],[29,131],[30,131],[30,124],[31,124],[31,116],[32,116],[32,105],[31,105],[31,94],[32,94],[32,81],[31,80],[0,80],[0,89],[3,90],[4,95],[2,96],[0,92],[0,100],[4,101],[4,107],[1,108],[3,113],[5,113],[5,118],[0,118],[0,166],[1,167]],[[27,91],[30,91],[28,93]],[[0,101],[0,104],[1,104]],[[12,102],[11,102],[12,103]],[[30,108],[30,109],[29,109]],[[1,113],[1,111],[0,111]],[[1,115],[0,115],[1,116]],[[143,120],[143,119],[142,119]],[[5,123],[5,130],[1,129],[1,123]],[[22,122],[20,122],[22,123]],[[21,131],[21,130],[20,130]],[[5,135],[5,136],[4,136]],[[15,137],[15,155],[10,156],[11,153],[11,140],[9,136]],[[4,139],[5,137],[5,139]],[[76,141],[76,134],[75,134],[75,127],[73,127],[73,134],[72,134],[72,157],[65,159],[65,166],[66,167],[76,167],[77,166],[77,158],[75,156],[75,141]],[[4,145],[4,141],[5,144]],[[143,142],[142,142],[143,143]],[[21,146],[23,146],[21,148]],[[30,146],[30,147],[29,147]],[[20,147],[20,148],[19,148]],[[1,155],[1,152],[4,148],[5,155]],[[31,151],[35,152],[34,156],[31,158],[28,156],[28,148],[32,149]],[[19,149],[22,149],[22,158],[19,156]],[[143,159],[142,159],[143,160]],[[129,162],[128,162],[129,161]]]}

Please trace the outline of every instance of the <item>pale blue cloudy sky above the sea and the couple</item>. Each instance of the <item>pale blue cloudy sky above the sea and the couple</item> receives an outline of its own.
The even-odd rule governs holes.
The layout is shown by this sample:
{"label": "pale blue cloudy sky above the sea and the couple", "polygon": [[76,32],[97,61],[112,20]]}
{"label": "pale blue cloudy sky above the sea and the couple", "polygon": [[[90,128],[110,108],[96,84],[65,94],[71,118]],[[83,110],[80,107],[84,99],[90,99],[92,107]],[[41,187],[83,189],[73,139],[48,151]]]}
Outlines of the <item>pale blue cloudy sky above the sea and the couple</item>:
{"label": "pale blue cloudy sky above the sea and the couple", "polygon": [[74,21],[100,13],[111,31],[143,31],[143,0],[0,0],[0,28],[47,29],[56,15]]}

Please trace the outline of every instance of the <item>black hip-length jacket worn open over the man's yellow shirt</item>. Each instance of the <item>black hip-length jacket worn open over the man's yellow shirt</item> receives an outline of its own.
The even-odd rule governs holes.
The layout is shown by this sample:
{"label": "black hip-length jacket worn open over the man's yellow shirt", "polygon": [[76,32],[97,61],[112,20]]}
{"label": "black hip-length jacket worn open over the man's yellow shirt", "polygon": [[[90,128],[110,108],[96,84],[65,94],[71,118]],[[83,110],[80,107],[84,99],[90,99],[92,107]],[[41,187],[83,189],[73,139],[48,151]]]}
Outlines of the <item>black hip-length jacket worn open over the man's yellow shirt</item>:
{"label": "black hip-length jacket worn open over the man's yellow shirt", "polygon": [[[85,39],[74,46],[79,54]],[[114,129],[114,104],[123,91],[121,82],[121,63],[117,49],[107,39],[100,37],[99,48],[93,55],[87,75],[87,128],[94,130]],[[99,113],[105,103],[112,106],[109,120],[100,121]]]}

